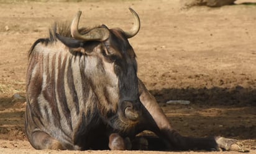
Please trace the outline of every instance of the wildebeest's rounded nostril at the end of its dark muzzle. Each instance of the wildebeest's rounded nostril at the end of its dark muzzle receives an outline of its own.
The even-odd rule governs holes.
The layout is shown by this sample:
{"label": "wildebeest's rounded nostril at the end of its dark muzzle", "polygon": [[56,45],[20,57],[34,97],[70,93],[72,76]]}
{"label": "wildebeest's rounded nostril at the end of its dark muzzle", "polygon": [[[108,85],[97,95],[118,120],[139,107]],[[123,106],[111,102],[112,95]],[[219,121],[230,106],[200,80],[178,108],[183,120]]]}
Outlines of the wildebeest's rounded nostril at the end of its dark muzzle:
{"label": "wildebeest's rounded nostril at the end of its dark muzzle", "polygon": [[131,121],[137,121],[140,117],[140,109],[139,106],[136,104],[133,105],[132,102],[126,101],[126,108],[124,109],[124,114],[126,118],[130,119]]}

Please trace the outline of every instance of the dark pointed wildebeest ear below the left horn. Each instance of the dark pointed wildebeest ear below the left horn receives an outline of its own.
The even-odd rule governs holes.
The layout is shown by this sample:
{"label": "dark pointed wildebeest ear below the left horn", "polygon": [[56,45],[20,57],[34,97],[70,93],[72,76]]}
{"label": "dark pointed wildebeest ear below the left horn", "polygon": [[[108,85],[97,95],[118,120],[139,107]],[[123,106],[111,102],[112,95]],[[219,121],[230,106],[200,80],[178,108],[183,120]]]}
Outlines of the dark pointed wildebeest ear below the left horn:
{"label": "dark pointed wildebeest ear below the left horn", "polygon": [[59,35],[58,33],[55,34],[58,38],[58,40],[62,41],[62,43],[69,48],[79,48],[83,46],[83,41],[75,40],[73,38],[68,38],[62,35]]}

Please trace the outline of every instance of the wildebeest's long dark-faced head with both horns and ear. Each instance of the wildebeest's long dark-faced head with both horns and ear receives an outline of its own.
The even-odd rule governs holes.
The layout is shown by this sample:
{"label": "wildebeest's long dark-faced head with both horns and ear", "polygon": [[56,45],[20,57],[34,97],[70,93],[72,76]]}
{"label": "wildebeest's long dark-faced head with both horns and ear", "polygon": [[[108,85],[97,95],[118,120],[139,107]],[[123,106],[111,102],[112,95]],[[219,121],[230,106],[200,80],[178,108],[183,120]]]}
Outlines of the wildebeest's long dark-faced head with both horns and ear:
{"label": "wildebeest's long dark-faced head with both horns and ear", "polygon": [[79,11],[71,24],[73,38],[56,34],[71,53],[85,56],[85,76],[98,99],[99,113],[119,130],[133,127],[141,114],[137,62],[134,49],[127,40],[139,32],[140,20],[134,10],[130,9],[130,12],[135,23],[128,32],[101,25],[81,33],[78,30]]}

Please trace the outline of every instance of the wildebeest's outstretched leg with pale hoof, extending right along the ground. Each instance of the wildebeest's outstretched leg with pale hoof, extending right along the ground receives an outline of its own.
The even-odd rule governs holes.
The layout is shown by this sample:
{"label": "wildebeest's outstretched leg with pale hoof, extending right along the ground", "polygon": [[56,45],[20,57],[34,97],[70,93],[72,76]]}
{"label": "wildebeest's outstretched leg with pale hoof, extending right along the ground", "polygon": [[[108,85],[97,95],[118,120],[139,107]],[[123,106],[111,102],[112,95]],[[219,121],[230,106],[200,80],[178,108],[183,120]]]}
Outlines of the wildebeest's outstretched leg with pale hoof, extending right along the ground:
{"label": "wildebeest's outstretched leg with pale hoof, extending right along the ground", "polygon": [[[194,138],[180,135],[171,127],[171,124],[168,121],[167,116],[163,113],[162,108],[160,108],[155,98],[150,95],[141,80],[139,80],[139,90],[141,103],[145,106],[145,109],[147,109],[151,118],[155,122],[153,125],[157,125],[158,127],[158,129],[155,129],[155,126],[150,122],[150,128],[152,128],[159,137],[167,141],[168,148],[173,150],[219,150],[219,148],[232,150],[232,146],[236,144],[235,142],[237,140],[226,139],[223,137]],[[149,121],[149,118],[147,118],[147,121]],[[223,145],[227,145],[227,147]],[[239,146],[237,148],[239,148]]]}

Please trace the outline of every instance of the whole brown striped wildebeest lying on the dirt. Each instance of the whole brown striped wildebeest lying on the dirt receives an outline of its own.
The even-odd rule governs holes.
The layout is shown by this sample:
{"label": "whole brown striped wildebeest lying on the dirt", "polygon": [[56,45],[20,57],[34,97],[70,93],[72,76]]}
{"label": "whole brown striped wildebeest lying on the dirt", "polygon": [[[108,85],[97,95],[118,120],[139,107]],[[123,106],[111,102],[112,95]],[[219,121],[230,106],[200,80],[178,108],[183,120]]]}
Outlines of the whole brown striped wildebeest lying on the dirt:
{"label": "whole brown striped wildebeest lying on the dirt", "polygon": [[[129,31],[78,28],[55,24],[49,38],[29,51],[25,130],[36,149],[132,150],[150,147],[154,132],[164,150],[229,150],[236,140],[184,137],[170,122],[137,77],[137,62],[128,39],[140,29],[137,13]],[[141,147],[135,145],[142,145]],[[148,145],[149,144],[149,145]],[[239,147],[239,145],[237,145]]]}

